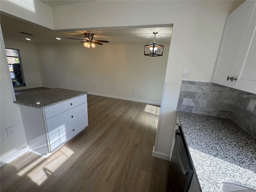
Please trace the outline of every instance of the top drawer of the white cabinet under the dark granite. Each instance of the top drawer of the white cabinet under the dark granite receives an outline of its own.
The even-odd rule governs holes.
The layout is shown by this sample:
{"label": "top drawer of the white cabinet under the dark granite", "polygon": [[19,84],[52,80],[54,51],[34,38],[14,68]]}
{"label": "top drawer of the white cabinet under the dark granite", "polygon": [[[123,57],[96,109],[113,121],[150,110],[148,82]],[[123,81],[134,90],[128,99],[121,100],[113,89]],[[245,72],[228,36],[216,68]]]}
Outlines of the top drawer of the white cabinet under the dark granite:
{"label": "top drawer of the white cabinet under the dark granite", "polygon": [[82,95],[49,107],[44,108],[45,118],[51,118],[58,115],[64,111],[70,110],[80,104],[87,102],[87,95]]}

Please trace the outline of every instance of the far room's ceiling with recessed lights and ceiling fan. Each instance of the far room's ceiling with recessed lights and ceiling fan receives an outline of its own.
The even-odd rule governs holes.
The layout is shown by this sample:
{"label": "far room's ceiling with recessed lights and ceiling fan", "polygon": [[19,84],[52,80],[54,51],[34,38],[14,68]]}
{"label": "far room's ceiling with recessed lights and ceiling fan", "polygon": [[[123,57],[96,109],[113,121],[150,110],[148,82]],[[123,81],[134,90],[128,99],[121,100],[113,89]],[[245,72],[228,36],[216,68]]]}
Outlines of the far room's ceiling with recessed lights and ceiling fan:
{"label": "far room's ceiling with recessed lights and ceiling fan", "polygon": [[[59,1],[58,1],[59,2]],[[62,1],[60,1],[62,2]],[[66,2],[66,1],[64,1]],[[70,1],[69,1],[70,2]],[[73,1],[72,1],[73,2]],[[153,40],[153,32],[158,32],[156,40],[159,44],[170,43],[172,27],[169,26],[150,26],[147,28],[122,28],[111,30],[82,30],[82,31],[54,31],[48,28],[38,26],[29,22],[11,18],[6,15],[0,16],[3,36],[16,40],[27,41],[30,38],[33,43],[79,43],[81,40],[72,40],[66,38],[84,37],[83,33],[93,33],[94,40],[107,40],[109,43],[143,43],[149,44]],[[29,36],[21,34],[25,32],[33,34]],[[56,40],[56,37],[61,40]]]}

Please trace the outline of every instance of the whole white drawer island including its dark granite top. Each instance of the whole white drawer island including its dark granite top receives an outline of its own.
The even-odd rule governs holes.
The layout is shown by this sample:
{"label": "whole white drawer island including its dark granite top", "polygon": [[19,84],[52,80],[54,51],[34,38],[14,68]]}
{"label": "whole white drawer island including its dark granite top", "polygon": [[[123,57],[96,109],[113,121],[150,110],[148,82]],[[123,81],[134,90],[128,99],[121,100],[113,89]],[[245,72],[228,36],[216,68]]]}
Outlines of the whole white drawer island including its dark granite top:
{"label": "whole white drawer island including its dark granite top", "polygon": [[31,152],[48,157],[88,126],[87,92],[52,88],[16,95]]}

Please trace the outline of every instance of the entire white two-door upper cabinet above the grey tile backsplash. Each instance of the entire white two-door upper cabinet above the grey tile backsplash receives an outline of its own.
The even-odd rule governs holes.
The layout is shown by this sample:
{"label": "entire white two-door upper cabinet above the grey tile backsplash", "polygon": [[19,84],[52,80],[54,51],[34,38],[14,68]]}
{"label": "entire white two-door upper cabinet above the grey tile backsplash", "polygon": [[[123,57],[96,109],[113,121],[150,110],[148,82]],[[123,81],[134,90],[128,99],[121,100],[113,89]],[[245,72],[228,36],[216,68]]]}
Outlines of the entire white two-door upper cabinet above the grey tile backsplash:
{"label": "entire white two-door upper cabinet above the grey tile backsplash", "polygon": [[256,93],[256,1],[228,15],[212,82]]}

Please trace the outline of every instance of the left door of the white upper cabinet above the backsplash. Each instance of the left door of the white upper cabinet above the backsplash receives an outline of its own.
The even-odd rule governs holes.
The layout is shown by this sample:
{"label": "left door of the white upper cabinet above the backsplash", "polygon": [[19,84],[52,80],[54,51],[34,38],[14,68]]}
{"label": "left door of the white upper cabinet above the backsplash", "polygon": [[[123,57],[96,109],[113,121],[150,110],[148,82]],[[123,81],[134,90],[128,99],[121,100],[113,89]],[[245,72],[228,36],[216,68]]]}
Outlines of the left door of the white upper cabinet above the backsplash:
{"label": "left door of the white upper cabinet above the backsplash", "polygon": [[[234,76],[254,12],[255,1],[246,1],[228,15],[212,82],[227,86],[228,76]],[[232,71],[232,69],[234,69]]]}

